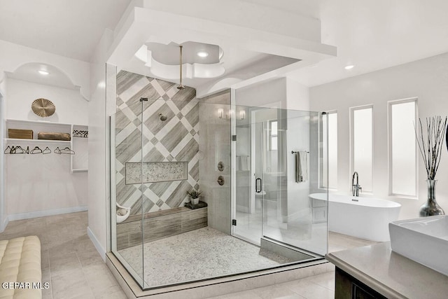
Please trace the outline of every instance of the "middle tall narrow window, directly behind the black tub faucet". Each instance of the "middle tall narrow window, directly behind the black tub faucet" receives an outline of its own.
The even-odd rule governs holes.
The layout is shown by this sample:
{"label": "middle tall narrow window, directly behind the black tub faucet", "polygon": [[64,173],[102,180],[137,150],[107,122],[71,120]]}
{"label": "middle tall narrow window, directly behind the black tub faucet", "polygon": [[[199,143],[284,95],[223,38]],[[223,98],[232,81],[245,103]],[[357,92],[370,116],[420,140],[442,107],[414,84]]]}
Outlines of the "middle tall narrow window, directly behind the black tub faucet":
{"label": "middle tall narrow window, directly behind the black tub faucet", "polygon": [[[373,106],[350,108],[351,174],[358,172],[362,192],[372,192]],[[351,179],[351,178],[350,178]]]}

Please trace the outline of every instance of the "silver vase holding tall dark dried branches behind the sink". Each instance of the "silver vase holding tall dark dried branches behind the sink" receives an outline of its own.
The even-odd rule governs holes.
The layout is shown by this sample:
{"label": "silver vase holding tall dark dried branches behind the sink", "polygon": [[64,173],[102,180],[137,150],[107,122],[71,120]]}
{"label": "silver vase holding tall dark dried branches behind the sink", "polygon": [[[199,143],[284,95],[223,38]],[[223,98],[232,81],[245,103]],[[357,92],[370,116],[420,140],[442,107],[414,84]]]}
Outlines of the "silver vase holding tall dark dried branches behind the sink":
{"label": "silver vase holding tall dark dried branches behind the sink", "polygon": [[435,200],[435,174],[440,165],[443,141],[447,130],[448,118],[445,116],[432,116],[426,118],[426,130],[419,119],[419,125],[415,128],[416,141],[419,145],[421,157],[425,165],[428,183],[428,200],[420,207],[420,216],[444,215],[443,209]]}

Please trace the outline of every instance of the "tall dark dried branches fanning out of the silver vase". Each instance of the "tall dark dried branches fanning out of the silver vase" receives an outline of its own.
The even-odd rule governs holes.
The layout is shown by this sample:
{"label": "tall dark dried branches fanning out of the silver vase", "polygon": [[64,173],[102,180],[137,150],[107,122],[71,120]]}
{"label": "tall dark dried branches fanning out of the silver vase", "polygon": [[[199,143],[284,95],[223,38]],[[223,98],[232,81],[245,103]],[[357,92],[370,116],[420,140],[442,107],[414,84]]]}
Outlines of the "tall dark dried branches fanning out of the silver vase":
{"label": "tall dark dried branches fanning out of the silver vase", "polygon": [[423,134],[421,119],[419,119],[419,130],[414,126],[416,141],[419,145],[428,179],[435,179],[435,174],[439,169],[447,123],[447,116],[444,120],[440,116],[426,118],[426,134]]}

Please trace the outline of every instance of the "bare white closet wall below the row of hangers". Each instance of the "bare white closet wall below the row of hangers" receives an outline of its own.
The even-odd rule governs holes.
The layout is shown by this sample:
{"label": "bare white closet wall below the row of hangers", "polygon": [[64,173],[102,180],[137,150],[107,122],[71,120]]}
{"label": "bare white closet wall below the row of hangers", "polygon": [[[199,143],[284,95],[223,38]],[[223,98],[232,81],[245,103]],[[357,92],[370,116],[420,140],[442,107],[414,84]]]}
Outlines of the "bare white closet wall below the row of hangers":
{"label": "bare white closet wall below the row of hangers", "polygon": [[69,155],[6,155],[5,160],[10,221],[87,209],[87,175],[70,173]]}

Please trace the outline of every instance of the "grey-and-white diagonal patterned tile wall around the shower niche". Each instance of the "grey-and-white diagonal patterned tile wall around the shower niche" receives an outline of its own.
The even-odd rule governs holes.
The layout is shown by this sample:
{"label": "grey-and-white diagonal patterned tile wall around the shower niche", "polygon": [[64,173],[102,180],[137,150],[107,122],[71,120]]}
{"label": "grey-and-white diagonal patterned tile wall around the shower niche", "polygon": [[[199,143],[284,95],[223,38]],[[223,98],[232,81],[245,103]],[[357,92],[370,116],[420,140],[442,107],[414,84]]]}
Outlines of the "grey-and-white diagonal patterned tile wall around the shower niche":
{"label": "grey-and-white diagonal patterned tile wall around the shower niche", "polygon": [[[200,111],[196,90],[178,90],[176,86],[128,71],[117,75],[116,194],[118,204],[132,207],[131,215],[179,207],[187,190],[199,188]],[[126,163],[141,162],[141,97],[148,98],[143,113],[143,161],[188,162],[188,179],[161,179],[143,186],[129,184],[128,180],[126,184]],[[160,113],[167,120],[160,120]]]}

